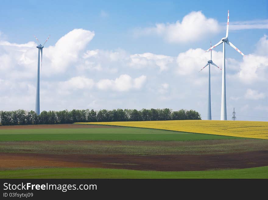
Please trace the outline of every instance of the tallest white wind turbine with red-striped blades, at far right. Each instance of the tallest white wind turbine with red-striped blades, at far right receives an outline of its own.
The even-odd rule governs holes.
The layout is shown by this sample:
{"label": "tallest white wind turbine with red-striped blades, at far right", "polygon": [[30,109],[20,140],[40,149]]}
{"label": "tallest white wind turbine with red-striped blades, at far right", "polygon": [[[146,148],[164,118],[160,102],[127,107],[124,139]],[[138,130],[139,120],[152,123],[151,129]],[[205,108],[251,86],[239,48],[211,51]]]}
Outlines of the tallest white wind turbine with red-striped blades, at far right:
{"label": "tallest white wind turbine with red-striped blades, at far right", "polygon": [[226,36],[221,38],[221,40],[215,44],[213,47],[210,47],[207,51],[217,47],[221,43],[223,43],[223,52],[222,52],[222,85],[221,85],[221,110],[220,110],[220,120],[227,120],[227,112],[226,112],[226,83],[225,83],[225,43],[233,47],[240,54],[245,56],[238,48],[236,48],[229,40],[228,40],[228,29],[229,29],[229,10],[228,10],[228,19],[227,19],[227,29]]}

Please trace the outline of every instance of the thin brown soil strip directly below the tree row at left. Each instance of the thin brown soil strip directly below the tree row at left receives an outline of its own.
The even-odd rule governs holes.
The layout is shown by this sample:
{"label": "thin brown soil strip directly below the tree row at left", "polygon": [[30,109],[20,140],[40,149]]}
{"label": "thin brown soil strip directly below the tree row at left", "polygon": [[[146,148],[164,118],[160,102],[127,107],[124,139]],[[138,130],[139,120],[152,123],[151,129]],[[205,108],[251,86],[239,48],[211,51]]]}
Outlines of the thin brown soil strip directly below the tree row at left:
{"label": "thin brown soil strip directly below the tree row at left", "polygon": [[1,129],[35,129],[35,128],[120,128],[119,126],[87,125],[87,124],[40,124],[0,126]]}

